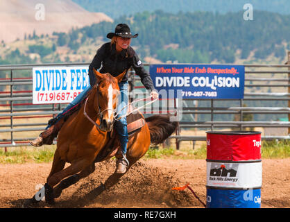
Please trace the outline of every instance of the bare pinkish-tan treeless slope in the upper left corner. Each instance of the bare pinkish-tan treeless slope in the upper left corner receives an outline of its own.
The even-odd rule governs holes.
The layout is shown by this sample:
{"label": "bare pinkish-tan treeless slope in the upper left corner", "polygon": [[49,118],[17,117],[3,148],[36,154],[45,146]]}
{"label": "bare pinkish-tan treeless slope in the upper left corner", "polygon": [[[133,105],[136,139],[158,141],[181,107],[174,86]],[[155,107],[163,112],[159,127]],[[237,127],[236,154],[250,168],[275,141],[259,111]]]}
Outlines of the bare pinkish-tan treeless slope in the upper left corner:
{"label": "bare pinkish-tan treeless slope in the upper left corner", "polygon": [[[44,10],[37,8],[41,3]],[[37,17],[44,12],[44,20]],[[38,14],[37,14],[38,13]],[[43,14],[43,13],[42,13]],[[24,39],[25,35],[42,35],[53,32],[68,32],[99,22],[113,22],[103,12],[88,12],[71,0],[1,0],[0,42]]]}

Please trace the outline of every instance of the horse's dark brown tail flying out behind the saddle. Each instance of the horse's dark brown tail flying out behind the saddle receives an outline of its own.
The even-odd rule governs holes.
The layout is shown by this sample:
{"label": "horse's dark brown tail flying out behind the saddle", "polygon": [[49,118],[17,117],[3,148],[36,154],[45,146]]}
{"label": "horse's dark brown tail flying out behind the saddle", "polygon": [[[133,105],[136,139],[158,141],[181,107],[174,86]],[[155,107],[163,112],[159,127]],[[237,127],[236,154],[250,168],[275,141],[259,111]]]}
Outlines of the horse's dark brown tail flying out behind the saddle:
{"label": "horse's dark brown tail flying out behind the saddle", "polygon": [[161,144],[176,130],[178,122],[170,121],[170,117],[170,115],[153,115],[145,119],[150,130],[151,144]]}

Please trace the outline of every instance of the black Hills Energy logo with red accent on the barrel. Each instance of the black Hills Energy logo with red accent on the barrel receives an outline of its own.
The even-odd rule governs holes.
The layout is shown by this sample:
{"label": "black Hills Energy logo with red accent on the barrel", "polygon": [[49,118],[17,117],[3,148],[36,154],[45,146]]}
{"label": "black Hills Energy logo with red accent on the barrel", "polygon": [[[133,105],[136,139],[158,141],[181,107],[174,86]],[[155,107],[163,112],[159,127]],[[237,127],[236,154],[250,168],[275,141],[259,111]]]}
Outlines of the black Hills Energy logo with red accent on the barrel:
{"label": "black Hills Energy logo with red accent on the barrel", "polygon": [[216,164],[210,166],[210,180],[237,182],[239,164]]}

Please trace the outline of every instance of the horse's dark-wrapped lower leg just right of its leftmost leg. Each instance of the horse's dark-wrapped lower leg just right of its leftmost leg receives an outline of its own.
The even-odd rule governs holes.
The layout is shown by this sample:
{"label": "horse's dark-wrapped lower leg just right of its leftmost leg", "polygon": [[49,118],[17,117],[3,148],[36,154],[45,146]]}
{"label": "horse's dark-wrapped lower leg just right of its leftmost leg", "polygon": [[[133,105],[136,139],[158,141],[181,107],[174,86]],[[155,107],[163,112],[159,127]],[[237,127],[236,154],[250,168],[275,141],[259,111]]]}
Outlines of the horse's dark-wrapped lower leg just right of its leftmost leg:
{"label": "horse's dark-wrapped lower leg just right of its leftmost leg", "polygon": [[69,178],[62,180],[55,188],[53,188],[54,198],[58,198],[60,196],[60,194],[62,193],[62,190],[66,189],[67,187],[70,187],[71,185],[74,185],[80,179],[89,176],[89,174],[93,173],[94,170],[95,170],[95,165],[93,162],[91,165],[89,165],[83,171],[80,171],[80,173],[74,174],[73,176],[70,176]]}

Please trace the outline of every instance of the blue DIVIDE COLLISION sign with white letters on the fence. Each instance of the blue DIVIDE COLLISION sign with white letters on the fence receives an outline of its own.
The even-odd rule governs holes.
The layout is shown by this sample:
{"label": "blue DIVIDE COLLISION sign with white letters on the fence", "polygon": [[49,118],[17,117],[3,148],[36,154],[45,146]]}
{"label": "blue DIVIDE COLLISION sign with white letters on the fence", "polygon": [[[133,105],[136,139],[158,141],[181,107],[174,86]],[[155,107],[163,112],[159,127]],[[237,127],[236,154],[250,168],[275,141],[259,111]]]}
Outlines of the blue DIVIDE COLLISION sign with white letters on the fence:
{"label": "blue DIVIDE COLLISION sign with white letters on the fence", "polygon": [[155,88],[183,99],[243,99],[245,68],[242,65],[151,65]]}

